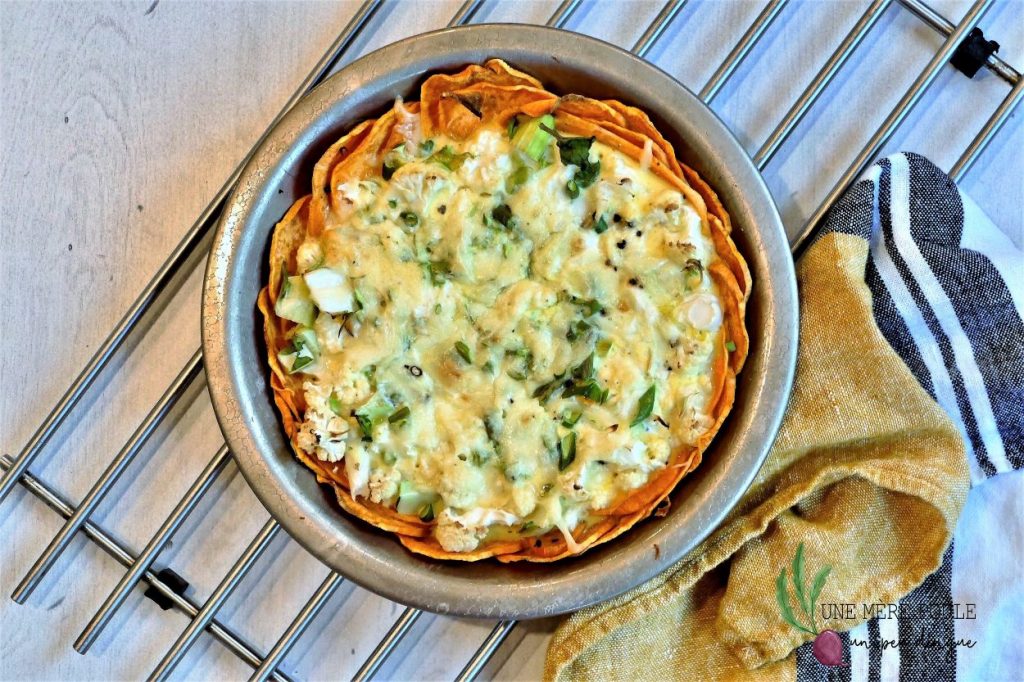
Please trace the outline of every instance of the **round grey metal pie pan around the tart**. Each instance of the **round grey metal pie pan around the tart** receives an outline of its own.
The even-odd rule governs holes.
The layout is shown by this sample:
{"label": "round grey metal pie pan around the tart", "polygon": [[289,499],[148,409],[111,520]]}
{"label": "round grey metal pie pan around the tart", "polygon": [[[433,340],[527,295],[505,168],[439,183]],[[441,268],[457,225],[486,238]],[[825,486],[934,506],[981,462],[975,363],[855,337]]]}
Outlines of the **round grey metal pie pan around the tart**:
{"label": "round grey metal pie pan around the tart", "polygon": [[[580,557],[550,564],[438,562],[347,515],[292,455],[271,399],[256,296],[270,232],[309,191],[312,165],[355,123],[394,97],[418,99],[426,75],[501,57],[553,92],[614,97],[646,111],[680,159],[716,188],[754,275],[751,355],[736,402],[669,514]],[[249,161],[228,199],[207,264],[203,349],[224,437],[270,514],[346,579],[439,613],[528,619],[603,601],[693,549],[748,488],[778,429],[796,364],[798,302],[782,223],[760,174],[725,125],[655,67],[608,43],[555,29],[479,25],[415,36],[349,66],[302,99]]]}

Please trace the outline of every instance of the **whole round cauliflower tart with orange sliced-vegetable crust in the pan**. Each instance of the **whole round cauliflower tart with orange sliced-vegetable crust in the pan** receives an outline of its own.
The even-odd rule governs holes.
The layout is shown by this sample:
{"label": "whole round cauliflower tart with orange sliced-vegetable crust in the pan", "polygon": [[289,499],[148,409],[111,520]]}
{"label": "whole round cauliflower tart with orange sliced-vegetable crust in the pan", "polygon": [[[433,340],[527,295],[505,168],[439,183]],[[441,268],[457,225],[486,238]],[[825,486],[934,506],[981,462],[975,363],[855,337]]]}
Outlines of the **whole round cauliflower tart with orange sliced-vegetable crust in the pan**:
{"label": "whole round cauliflower tart with orange sliced-vegetable crust in the pan", "polygon": [[296,456],[440,559],[551,561],[651,514],[733,403],[751,278],[640,110],[493,59],[356,125],[260,292]]}

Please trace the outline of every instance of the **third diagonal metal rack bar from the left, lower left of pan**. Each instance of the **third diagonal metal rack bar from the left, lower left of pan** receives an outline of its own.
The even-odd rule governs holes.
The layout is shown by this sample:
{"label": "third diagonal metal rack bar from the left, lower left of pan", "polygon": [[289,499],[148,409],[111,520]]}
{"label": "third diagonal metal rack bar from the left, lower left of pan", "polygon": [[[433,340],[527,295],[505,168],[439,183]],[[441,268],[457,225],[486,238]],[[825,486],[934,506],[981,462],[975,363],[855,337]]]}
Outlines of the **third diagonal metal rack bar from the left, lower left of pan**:
{"label": "third diagonal metal rack bar from the left, lower left of pan", "polygon": [[138,584],[142,574],[150,569],[153,561],[157,558],[157,555],[163,551],[164,547],[167,545],[167,541],[171,539],[179,527],[181,523],[184,522],[185,518],[191,513],[193,509],[199,503],[200,499],[206,492],[210,488],[214,479],[223,471],[227,462],[230,460],[230,452],[227,450],[227,445],[221,445],[220,450],[206,465],[206,468],[196,479],[196,482],[191,484],[185,496],[178,501],[178,504],[174,507],[174,510],[167,517],[167,520],[160,526],[157,532],[153,536],[150,542],[146,544],[145,548],[135,559],[134,564],[128,569],[128,572],[124,574],[118,586],[114,588],[114,591],[106,597],[103,601],[102,606],[96,611],[96,614],[92,616],[89,624],[82,631],[82,634],[78,636],[75,640],[75,650],[79,653],[85,653],[92,646],[93,642],[99,636],[99,633],[103,631],[106,624],[110,622],[114,613],[117,612],[118,608],[125,602],[128,595],[131,593],[132,589]]}

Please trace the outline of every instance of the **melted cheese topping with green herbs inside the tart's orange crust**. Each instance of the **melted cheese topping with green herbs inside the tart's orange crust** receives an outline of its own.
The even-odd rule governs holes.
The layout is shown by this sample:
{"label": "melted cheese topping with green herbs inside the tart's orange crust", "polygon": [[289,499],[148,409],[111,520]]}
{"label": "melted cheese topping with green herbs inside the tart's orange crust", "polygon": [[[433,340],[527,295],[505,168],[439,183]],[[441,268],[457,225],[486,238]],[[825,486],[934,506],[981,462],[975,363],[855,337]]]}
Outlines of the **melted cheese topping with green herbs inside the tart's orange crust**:
{"label": "melted cheese topping with green herbs inside the tart's orange crust", "polygon": [[355,308],[313,325],[300,446],[343,460],[353,496],[435,518],[445,550],[552,528],[572,547],[710,426],[711,237],[597,142],[575,198],[553,141],[528,171],[503,131],[425,145],[387,181],[332,187],[352,210],[299,250]]}

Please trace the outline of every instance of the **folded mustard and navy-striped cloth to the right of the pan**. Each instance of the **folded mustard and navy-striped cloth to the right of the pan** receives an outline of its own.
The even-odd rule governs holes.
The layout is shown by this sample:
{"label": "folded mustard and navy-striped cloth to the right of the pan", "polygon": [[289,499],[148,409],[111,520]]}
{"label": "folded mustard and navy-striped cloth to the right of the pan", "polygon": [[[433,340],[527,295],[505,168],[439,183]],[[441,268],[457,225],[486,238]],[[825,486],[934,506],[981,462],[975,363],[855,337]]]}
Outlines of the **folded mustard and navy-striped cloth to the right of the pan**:
{"label": "folded mustard and navy-striped cloth to the right of the pan", "polygon": [[[845,631],[916,586],[905,603],[948,603],[972,476],[1020,466],[1024,335],[1007,284],[1020,261],[962,245],[972,216],[916,155],[879,162],[847,191],[797,266],[794,392],[750,491],[675,566],[569,616],[548,679],[878,679],[936,656],[882,650],[880,636],[904,634],[896,619],[860,626],[873,648],[851,648]],[[826,629],[843,632],[851,668],[812,655],[829,659],[828,642],[809,643]],[[921,675],[908,679],[939,679]]]}

